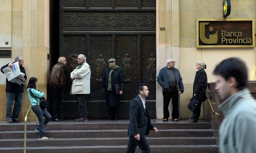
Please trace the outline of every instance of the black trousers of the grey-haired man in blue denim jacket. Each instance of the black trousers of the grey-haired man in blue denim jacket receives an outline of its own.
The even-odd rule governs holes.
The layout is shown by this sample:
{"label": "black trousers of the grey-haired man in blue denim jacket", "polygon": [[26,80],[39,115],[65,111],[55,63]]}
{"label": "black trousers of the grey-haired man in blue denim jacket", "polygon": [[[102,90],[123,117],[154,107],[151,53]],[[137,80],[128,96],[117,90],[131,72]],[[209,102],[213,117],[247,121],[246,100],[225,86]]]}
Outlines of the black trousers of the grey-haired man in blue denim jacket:
{"label": "black trousers of the grey-haired man in blue denim jacket", "polygon": [[179,91],[178,90],[172,90],[172,91],[163,91],[163,97],[164,97],[164,118],[168,119],[170,117],[169,113],[169,104],[170,100],[172,99],[172,119],[179,118]]}

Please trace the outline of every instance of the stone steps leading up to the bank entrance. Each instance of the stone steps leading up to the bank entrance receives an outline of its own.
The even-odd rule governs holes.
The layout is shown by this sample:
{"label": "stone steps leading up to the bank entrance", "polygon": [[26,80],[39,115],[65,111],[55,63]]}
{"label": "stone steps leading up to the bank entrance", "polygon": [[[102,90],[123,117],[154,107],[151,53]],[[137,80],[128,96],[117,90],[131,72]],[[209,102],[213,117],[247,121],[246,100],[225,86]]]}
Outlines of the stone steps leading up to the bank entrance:
{"label": "stone steps leading up to the bank entrance", "polygon": [[[150,132],[147,141],[156,153],[217,153],[211,123],[199,121],[152,120],[158,132]],[[27,123],[27,153],[107,153],[126,152],[129,120],[50,121],[46,125],[48,140],[38,140],[35,122]],[[22,153],[24,122],[0,122],[0,152]],[[136,152],[141,152],[136,149]]]}

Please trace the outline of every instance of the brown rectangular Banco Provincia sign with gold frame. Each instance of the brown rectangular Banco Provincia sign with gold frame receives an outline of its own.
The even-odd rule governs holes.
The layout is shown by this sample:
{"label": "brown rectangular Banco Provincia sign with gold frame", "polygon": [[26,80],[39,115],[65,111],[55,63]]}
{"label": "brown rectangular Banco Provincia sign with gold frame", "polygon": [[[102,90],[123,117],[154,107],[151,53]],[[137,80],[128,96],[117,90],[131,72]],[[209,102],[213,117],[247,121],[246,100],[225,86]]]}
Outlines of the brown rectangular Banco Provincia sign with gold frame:
{"label": "brown rectangular Banco Provincia sign with gold frame", "polygon": [[196,47],[255,47],[254,19],[196,19]]}

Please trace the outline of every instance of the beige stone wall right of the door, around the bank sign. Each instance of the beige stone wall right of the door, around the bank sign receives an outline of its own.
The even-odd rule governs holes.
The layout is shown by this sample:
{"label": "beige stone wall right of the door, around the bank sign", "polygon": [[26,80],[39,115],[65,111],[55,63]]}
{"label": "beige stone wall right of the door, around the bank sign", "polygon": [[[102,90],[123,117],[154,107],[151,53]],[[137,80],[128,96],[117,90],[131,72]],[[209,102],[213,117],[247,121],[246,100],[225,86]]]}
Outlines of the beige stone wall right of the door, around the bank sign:
{"label": "beige stone wall right of the door, around the bank sign", "polygon": [[[205,61],[208,82],[214,82],[212,71],[217,63],[228,57],[240,57],[249,69],[249,80],[255,80],[254,48],[196,48],[196,19],[223,19],[222,1],[218,0],[157,0],[157,73],[166,65],[163,59],[174,58],[180,70],[185,91],[180,95],[180,118],[191,117],[187,109],[188,99],[192,97],[195,77],[195,64]],[[256,18],[256,1],[231,1],[231,13],[227,19]],[[255,20],[254,20],[255,21]],[[165,31],[160,31],[165,27]],[[157,118],[163,117],[163,97],[157,84]],[[204,103],[203,105],[209,105]],[[202,107],[203,108],[203,107]],[[171,106],[169,106],[171,110]],[[203,111],[203,110],[202,110]],[[202,113],[201,117],[202,118]]]}

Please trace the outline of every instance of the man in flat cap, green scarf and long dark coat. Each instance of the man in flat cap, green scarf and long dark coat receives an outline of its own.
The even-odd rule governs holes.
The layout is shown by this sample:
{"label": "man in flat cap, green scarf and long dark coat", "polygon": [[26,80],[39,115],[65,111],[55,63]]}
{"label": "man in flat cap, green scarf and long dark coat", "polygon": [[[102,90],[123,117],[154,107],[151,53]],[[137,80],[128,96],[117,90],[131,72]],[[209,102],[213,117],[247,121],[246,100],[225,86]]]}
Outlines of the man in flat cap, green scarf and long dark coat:
{"label": "man in flat cap, green scarf and long dark coat", "polygon": [[[116,60],[110,58],[108,60],[109,67],[103,72],[103,87],[106,92],[106,106],[108,106],[108,120],[118,120],[120,95],[124,90],[124,72],[123,69],[116,65]],[[115,86],[120,85],[120,92],[116,93]]]}

